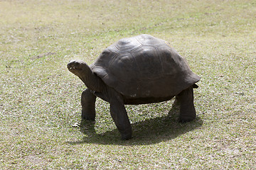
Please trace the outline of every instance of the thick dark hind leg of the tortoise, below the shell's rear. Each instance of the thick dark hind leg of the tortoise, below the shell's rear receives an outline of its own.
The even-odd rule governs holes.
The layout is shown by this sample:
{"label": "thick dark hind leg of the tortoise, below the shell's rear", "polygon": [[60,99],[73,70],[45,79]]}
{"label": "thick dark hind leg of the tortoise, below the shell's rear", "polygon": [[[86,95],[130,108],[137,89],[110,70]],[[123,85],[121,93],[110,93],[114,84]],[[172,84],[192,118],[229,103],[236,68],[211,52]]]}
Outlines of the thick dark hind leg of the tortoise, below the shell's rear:
{"label": "thick dark hind leg of the tortoise, below the shell's rear", "polygon": [[179,121],[185,123],[196,118],[196,109],[193,104],[193,86],[181,91],[176,99],[181,104]]}

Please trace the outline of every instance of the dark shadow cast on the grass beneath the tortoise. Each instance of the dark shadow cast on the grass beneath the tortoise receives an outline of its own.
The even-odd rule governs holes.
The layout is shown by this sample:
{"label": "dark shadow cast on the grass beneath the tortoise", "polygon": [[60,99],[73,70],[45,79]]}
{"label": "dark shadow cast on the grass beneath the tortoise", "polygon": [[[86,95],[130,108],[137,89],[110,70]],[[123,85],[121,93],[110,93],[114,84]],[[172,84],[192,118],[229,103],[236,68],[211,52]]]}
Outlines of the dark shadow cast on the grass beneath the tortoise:
{"label": "dark shadow cast on the grass beneath the tortoise", "polygon": [[203,120],[196,117],[189,123],[178,123],[178,114],[172,108],[169,115],[160,118],[153,118],[132,124],[132,139],[121,140],[117,129],[97,134],[95,124],[89,121],[82,121],[80,131],[85,134],[82,141],[68,142],[70,145],[93,143],[99,145],[150,145],[166,140],[172,140],[191,130],[203,125]]}

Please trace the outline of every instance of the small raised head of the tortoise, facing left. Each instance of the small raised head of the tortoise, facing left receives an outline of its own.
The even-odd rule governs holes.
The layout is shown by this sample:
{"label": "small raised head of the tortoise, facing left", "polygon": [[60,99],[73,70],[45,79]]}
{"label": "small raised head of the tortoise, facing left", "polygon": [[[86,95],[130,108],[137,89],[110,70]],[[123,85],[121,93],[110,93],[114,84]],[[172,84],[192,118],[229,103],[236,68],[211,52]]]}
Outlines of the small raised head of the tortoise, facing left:
{"label": "small raised head of the tortoise, facing left", "polygon": [[75,74],[78,77],[81,77],[82,74],[85,74],[84,70],[88,69],[88,65],[81,60],[71,60],[68,65],[68,70]]}

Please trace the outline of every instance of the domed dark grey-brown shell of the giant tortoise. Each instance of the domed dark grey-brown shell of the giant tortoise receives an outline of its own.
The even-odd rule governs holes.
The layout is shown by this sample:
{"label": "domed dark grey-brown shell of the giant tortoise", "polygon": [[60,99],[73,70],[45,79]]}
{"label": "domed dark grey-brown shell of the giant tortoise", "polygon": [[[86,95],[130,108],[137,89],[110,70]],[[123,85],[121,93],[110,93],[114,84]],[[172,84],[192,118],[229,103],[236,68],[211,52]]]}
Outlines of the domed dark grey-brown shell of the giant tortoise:
{"label": "domed dark grey-brown shell of the giant tortoise", "polygon": [[119,40],[91,68],[127,98],[175,96],[200,79],[168,42],[151,35]]}

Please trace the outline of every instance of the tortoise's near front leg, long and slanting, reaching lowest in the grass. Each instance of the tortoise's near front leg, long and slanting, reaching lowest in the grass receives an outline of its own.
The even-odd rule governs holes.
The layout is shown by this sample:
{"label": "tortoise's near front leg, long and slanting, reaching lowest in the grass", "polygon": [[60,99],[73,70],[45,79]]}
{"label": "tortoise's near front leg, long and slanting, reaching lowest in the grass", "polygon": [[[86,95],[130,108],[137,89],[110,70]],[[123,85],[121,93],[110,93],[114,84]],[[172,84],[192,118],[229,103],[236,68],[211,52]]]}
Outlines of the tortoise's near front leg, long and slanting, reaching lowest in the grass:
{"label": "tortoise's near front leg, long and slanting, reaching lowest in the grass", "polygon": [[117,130],[122,135],[122,140],[129,140],[132,138],[132,126],[129,122],[127,111],[124,107],[124,101],[120,94],[112,95],[110,99],[110,114],[117,126]]}

